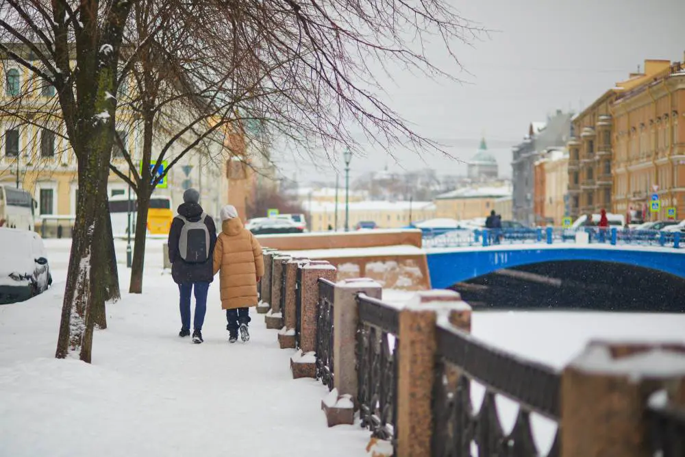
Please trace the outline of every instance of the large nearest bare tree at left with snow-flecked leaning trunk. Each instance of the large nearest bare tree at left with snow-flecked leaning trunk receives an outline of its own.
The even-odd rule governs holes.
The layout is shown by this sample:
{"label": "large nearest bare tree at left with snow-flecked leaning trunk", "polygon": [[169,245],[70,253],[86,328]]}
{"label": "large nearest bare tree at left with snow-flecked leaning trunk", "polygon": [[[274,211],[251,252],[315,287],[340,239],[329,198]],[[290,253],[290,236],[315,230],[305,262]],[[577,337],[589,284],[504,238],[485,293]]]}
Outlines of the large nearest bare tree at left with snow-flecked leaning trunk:
{"label": "large nearest bare tree at left with snow-flecked leaning trunk", "polygon": [[[114,133],[116,64],[134,1],[5,0],[0,51],[55,87],[73,147],[79,196],[55,355],[90,362],[97,314],[111,297],[113,249],[107,178]],[[75,62],[75,66],[71,65]],[[118,283],[116,284],[118,286]]]}

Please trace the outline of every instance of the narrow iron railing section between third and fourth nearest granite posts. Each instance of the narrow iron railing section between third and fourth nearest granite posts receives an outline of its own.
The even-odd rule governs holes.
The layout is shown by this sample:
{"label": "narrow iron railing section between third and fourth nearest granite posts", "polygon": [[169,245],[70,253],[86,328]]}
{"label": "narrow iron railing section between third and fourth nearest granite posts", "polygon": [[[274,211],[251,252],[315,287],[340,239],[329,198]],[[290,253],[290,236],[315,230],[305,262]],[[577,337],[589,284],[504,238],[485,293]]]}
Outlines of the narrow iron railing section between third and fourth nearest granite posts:
{"label": "narrow iron railing section between third and fourth nearest granite posts", "polygon": [[316,304],[316,379],[333,390],[333,297],[335,284],[319,278]]}

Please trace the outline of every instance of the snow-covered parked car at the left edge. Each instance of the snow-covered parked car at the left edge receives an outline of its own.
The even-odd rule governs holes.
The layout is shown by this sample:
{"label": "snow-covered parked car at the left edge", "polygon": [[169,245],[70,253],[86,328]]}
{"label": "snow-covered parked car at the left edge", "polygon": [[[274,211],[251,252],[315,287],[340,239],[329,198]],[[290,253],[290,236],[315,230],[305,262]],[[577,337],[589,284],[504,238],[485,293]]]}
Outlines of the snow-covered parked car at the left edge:
{"label": "snow-covered parked car at the left edge", "polygon": [[0,228],[0,304],[25,301],[51,284],[42,238],[28,230]]}

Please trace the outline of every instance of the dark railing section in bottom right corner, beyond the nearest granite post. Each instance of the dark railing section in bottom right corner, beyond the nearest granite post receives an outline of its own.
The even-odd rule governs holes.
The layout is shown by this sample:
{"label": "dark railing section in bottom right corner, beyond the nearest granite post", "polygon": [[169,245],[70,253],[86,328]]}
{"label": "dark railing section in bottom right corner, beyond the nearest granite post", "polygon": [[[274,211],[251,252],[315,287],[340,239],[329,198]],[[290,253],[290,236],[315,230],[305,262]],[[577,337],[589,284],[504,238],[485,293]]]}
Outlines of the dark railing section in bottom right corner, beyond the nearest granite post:
{"label": "dark railing section in bottom right corner, beyond the nearest granite post", "polygon": [[685,456],[685,409],[674,405],[649,407],[652,452],[661,457]]}

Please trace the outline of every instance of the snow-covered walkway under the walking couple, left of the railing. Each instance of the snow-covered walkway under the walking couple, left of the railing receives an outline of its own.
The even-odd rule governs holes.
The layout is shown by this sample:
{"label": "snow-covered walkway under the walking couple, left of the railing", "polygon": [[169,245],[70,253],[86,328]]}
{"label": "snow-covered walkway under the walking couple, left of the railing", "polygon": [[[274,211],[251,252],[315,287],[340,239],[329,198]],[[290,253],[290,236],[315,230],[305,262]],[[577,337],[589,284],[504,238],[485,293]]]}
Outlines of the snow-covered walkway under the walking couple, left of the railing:
{"label": "snow-covered walkway under the walking couple, left of the railing", "polygon": [[[145,293],[108,306],[93,363],[55,360],[69,240],[46,240],[55,284],[0,306],[0,456],[366,456],[358,425],[327,428],[321,382],[292,380],[293,350],[251,312],[251,341],[227,343],[219,287],[203,336],[177,336],[178,291],[150,240]],[[117,242],[122,289],[125,243]]]}

